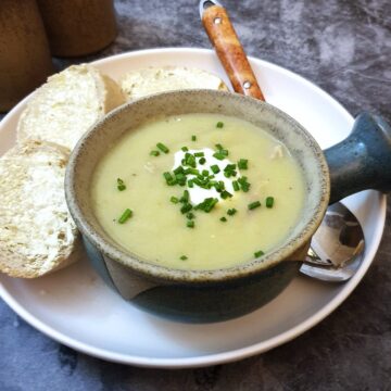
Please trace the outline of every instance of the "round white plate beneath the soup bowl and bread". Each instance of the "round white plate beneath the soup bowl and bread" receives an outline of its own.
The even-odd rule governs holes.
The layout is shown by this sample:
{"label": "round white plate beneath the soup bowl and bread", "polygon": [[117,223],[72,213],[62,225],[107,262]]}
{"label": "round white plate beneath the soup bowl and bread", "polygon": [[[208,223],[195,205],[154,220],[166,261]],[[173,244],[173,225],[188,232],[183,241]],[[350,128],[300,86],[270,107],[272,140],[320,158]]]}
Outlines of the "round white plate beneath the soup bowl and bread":
{"label": "round white plate beneath the soup bowl and bread", "polygon": [[[251,59],[269,103],[282,109],[327,148],[350,131],[353,118],[330,96],[302,77]],[[215,54],[202,49],[156,49],[114,55],[94,63],[114,78],[142,66],[187,65],[220,75]],[[27,98],[28,99],[28,98]],[[0,153],[15,138],[22,101],[2,121]],[[87,261],[36,280],[0,276],[2,299],[26,321],[78,351],[109,361],[149,367],[194,367],[226,363],[285,343],[330,314],[364,277],[378,249],[386,198],[366,191],[346,199],[366,238],[365,260],[344,285],[298,277],[274,301],[247,316],[210,325],[173,323],[123,301],[94,274]]]}

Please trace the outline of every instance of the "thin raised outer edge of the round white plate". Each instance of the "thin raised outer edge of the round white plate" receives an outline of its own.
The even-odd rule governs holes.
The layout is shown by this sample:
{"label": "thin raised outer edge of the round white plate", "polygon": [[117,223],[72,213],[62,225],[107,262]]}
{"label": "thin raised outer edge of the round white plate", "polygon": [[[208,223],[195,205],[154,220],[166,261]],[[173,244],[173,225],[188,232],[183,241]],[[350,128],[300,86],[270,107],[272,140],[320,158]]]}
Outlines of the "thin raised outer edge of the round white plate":
{"label": "thin raised outer edge of the round white plate", "polygon": [[[128,58],[136,58],[139,55],[149,55],[149,54],[159,54],[159,53],[176,53],[176,54],[186,54],[189,53],[213,53],[213,51],[209,49],[198,49],[198,48],[161,48],[161,49],[147,49],[147,50],[139,50],[134,52],[126,52],[116,55],[112,55],[105,59],[98,60],[92,64],[102,65],[105,63],[110,63],[112,61],[118,61]],[[349,118],[352,119],[352,116],[349,112],[340,105],[332,97],[330,97],[327,92],[321,90],[319,87],[314,85],[313,83],[308,81],[307,79],[303,78],[300,75],[294,74],[293,72],[282,68],[276,64],[258,60],[255,58],[250,58],[251,62],[257,62],[263,64],[264,66],[278,70],[279,72],[286,73],[291,78],[295,78],[311,85],[311,88],[316,89],[318,93],[323,94],[330,104],[336,106],[339,111],[343,111]],[[7,122],[12,118],[15,112],[18,111],[20,106],[24,105],[26,101],[30,98],[30,96],[26,97],[22,100],[1,122],[1,127],[7,125]],[[382,195],[380,200],[380,209],[379,209],[379,220],[376,225],[376,231],[374,232],[374,240],[369,251],[365,256],[365,261],[363,262],[361,268],[356,273],[356,275],[345,285],[345,287],[332,299],[330,300],[321,310],[314,313],[310,316],[306,320],[302,321],[301,324],[297,325],[295,327],[290,328],[288,331],[279,333],[273,338],[269,338],[263,342],[254,343],[248,346],[243,346],[240,349],[230,350],[227,352],[220,352],[215,354],[203,354],[198,357],[180,357],[180,358],[151,358],[151,357],[142,357],[137,355],[130,354],[123,354],[116,353],[114,351],[109,351],[106,349],[94,348],[93,345],[87,344],[80,340],[75,338],[70,338],[65,333],[59,332],[54,328],[46,325],[42,320],[38,317],[34,316],[27,308],[22,306],[15,298],[7,291],[5,287],[0,283],[0,297],[4,300],[4,302],[16,313],[18,314],[24,320],[30,324],[33,327],[41,331],[42,333],[47,335],[48,337],[61,342],[70,348],[73,348],[77,351],[83,353],[108,360],[111,362],[123,363],[123,364],[131,364],[137,366],[144,366],[144,367],[161,367],[161,368],[185,368],[185,367],[199,367],[199,366],[206,366],[206,365],[216,365],[228,363],[232,361],[237,361],[240,358],[245,358],[273,348],[276,348],[282,343],[286,343],[295,337],[302,335],[310,328],[314,327],[325,317],[327,317],[333,310],[336,310],[355,289],[357,283],[364,277],[365,273],[367,272],[368,267],[370,266],[377,249],[380,244],[380,240],[382,237],[382,231],[386,222],[386,210],[387,210],[387,201],[386,197]]]}

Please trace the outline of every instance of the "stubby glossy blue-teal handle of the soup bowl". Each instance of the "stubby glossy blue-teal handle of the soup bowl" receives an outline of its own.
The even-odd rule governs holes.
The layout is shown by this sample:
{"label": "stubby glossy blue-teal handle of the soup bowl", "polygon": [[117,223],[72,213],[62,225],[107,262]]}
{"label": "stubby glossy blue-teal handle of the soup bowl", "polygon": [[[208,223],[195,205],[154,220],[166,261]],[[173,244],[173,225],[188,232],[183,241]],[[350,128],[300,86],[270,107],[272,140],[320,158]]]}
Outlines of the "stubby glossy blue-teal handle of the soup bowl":
{"label": "stubby glossy blue-teal handle of the soup bowl", "polygon": [[330,169],[330,204],[366,189],[391,191],[391,127],[380,116],[360,114],[349,137],[324,153]]}

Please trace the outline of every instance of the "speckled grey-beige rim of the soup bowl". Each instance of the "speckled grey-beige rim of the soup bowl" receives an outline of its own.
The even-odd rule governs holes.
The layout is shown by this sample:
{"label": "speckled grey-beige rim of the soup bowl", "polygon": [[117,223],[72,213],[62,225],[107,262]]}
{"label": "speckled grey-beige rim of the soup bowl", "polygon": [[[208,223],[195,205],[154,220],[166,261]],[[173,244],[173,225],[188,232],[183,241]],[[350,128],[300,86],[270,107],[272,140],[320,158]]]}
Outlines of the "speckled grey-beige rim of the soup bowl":
{"label": "speckled grey-beige rim of the soup bowl", "polygon": [[[93,135],[101,129],[106,122],[111,122],[113,118],[129,110],[129,108],[136,108],[138,105],[143,105],[150,103],[154,99],[171,99],[172,96],[182,96],[184,99],[189,96],[194,96],[194,98],[200,98],[199,96],[206,93],[207,96],[214,96],[215,99],[227,99],[234,100],[238,104],[242,104],[243,101],[247,101],[248,104],[258,105],[258,108],[266,108],[267,111],[272,112],[276,117],[283,118],[292,128],[300,130],[301,137],[305,139],[307,148],[311,148],[316,161],[318,163],[318,168],[320,177],[317,180],[320,182],[321,193],[317,200],[316,209],[305,225],[298,235],[295,235],[288,242],[282,243],[270,253],[263,255],[262,257],[254,258],[248,263],[232,266],[229,268],[218,268],[218,269],[205,269],[205,270],[184,270],[168,268],[165,266],[156,265],[148,262],[148,260],[142,260],[135,254],[131,254],[129,251],[123,249],[118,243],[110,242],[103,236],[99,235],[92,224],[90,224],[84,216],[83,210],[78,202],[77,192],[75,189],[76,174],[75,171],[77,165],[80,164],[79,161],[83,157],[83,151],[86,148],[86,144],[91,140]],[[198,96],[198,97],[197,97]],[[207,111],[204,111],[205,113]],[[150,119],[146,117],[146,121]],[[289,116],[287,113],[281,110],[268,104],[266,102],[244,97],[238,93],[231,93],[226,91],[216,91],[216,90],[206,90],[206,89],[191,89],[191,90],[177,90],[169,92],[161,92],[151,94],[144,98],[137,99],[135,101],[123,104],[119,108],[116,108],[102,119],[96,123],[78,141],[74,148],[65,174],[65,198],[71,212],[72,217],[74,218],[78,229],[81,235],[86,236],[87,239],[105,256],[111,260],[121,263],[122,265],[131,269],[135,274],[143,276],[147,279],[157,280],[161,282],[167,283],[186,283],[186,285],[204,285],[204,283],[217,283],[225,281],[239,280],[248,277],[253,277],[265,269],[268,269],[280,262],[285,262],[291,254],[300,250],[305,243],[307,243],[318,226],[321,223],[326,209],[328,206],[328,201],[330,197],[330,179],[329,171],[324,153],[313,138],[313,136],[301,126],[295,119]],[[109,236],[108,236],[109,237]],[[288,261],[289,262],[289,261]]]}

